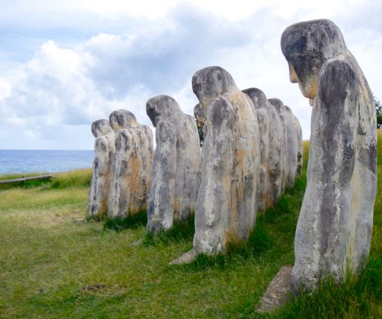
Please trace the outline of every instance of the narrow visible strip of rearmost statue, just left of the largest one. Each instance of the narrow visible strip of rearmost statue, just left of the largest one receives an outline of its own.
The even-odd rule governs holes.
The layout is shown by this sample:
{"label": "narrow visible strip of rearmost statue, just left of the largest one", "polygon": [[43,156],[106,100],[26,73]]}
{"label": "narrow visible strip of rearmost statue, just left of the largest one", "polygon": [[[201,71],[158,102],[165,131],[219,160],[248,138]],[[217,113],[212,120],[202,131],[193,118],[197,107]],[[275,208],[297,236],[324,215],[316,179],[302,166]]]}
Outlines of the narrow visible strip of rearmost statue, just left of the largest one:
{"label": "narrow visible strip of rearmost statue, just left of the largest one", "polygon": [[292,116],[290,112],[285,108],[285,105],[279,98],[269,98],[268,100],[274,107],[276,107],[276,110],[279,112],[281,121],[283,121],[284,126],[284,140],[286,142],[285,144],[285,151],[286,151],[286,158],[287,158],[287,169],[285,170],[285,173],[287,174],[287,180],[286,180],[286,187],[293,187],[294,185],[294,178],[296,177],[296,171],[297,171],[297,153],[298,153],[298,139],[297,139],[297,130],[296,126],[294,125],[294,121],[292,119]]}

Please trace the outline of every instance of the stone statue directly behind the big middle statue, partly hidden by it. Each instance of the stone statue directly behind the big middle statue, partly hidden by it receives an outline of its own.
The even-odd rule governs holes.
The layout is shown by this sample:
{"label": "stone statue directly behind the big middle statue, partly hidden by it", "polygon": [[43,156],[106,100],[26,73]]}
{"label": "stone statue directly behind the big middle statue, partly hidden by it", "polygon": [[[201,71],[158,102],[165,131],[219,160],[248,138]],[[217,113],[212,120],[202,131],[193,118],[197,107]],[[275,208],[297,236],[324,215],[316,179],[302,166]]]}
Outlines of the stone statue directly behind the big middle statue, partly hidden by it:
{"label": "stone statue directly behind the big middle statue, partly hidden by it", "polygon": [[[281,195],[283,170],[286,165],[283,123],[264,92],[251,87],[242,92],[251,98],[260,128],[260,174],[258,185],[259,209],[265,209]],[[266,174],[264,177],[264,173]]]}

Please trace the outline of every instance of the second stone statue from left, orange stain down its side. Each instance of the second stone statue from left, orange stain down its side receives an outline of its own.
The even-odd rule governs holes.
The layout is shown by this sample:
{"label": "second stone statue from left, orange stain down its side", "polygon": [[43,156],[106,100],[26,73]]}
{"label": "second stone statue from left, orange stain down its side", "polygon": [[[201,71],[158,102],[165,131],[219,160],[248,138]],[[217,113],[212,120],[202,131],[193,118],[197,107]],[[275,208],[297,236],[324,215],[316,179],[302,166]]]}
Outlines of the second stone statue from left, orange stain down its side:
{"label": "second stone statue from left, orange stain down its side", "polygon": [[108,199],[108,216],[125,217],[147,208],[153,165],[153,134],[133,113],[117,110],[110,114],[115,130],[113,178]]}

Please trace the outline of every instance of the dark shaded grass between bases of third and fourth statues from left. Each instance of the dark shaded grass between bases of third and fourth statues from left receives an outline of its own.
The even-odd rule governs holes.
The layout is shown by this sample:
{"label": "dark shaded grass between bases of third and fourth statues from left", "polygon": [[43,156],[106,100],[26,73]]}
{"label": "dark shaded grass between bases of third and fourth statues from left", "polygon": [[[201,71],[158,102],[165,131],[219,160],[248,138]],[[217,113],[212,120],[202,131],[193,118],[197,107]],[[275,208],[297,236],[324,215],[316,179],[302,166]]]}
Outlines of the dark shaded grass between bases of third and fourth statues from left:
{"label": "dark shaded grass between bases of third and fourth statues from left", "polygon": [[174,225],[158,234],[149,232],[144,237],[144,245],[157,245],[158,243],[171,243],[179,241],[190,241],[194,238],[195,225],[194,214],[186,221],[174,221]]}

